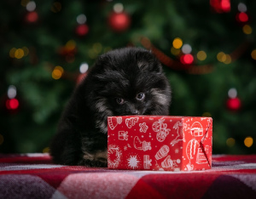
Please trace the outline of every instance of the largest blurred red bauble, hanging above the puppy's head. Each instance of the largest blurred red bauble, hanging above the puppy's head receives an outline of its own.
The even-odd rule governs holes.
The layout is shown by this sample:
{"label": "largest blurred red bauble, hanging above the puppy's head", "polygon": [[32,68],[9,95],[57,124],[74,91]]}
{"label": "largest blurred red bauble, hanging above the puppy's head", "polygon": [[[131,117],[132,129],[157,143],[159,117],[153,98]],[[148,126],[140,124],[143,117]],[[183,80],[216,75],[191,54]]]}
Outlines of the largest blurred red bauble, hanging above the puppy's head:
{"label": "largest blurred red bauble, hanging above the puppy's head", "polygon": [[108,24],[113,29],[113,31],[126,31],[131,25],[131,18],[125,12],[113,12],[108,17]]}

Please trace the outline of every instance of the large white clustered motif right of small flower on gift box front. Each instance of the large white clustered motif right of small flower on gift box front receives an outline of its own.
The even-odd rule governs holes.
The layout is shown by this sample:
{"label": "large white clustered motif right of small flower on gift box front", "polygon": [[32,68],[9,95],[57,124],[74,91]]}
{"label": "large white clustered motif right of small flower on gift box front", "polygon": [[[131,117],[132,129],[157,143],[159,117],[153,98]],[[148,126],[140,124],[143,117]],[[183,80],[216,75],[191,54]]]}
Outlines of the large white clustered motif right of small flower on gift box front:
{"label": "large white clustered motif right of small flower on gift box front", "polygon": [[165,119],[160,118],[157,122],[154,122],[152,129],[156,132],[156,139],[160,142],[163,142],[166,139],[166,136],[171,131],[170,128],[167,128],[167,124],[164,123]]}

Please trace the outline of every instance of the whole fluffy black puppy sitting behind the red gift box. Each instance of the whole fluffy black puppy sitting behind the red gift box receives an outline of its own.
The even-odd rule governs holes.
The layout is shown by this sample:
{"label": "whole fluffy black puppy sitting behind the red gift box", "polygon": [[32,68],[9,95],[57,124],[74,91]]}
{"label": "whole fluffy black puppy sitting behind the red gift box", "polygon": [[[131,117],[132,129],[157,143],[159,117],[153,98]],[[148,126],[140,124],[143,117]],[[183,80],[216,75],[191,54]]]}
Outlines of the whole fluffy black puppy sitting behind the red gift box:
{"label": "whole fluffy black puppy sitting behind the red gift box", "polygon": [[75,89],[50,147],[55,163],[107,167],[109,116],[168,115],[171,88],[143,48],[103,54]]}

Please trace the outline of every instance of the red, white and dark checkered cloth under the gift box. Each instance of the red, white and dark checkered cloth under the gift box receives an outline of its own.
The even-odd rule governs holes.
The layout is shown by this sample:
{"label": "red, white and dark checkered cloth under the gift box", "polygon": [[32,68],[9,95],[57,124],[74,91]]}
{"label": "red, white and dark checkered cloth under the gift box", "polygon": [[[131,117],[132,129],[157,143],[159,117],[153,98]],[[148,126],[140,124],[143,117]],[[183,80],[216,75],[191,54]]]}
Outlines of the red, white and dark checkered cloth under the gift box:
{"label": "red, white and dark checkered cloth under the gift box", "polygon": [[212,156],[198,172],[55,165],[48,154],[0,154],[0,198],[256,198],[256,155]]}

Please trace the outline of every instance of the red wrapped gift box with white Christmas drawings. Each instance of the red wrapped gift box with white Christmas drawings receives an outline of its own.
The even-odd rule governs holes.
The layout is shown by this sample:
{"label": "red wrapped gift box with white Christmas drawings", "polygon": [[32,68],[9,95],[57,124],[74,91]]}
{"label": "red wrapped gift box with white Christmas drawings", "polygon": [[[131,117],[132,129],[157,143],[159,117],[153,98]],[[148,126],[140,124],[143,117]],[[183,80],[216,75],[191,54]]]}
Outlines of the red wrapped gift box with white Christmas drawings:
{"label": "red wrapped gift box with white Christmas drawings", "polygon": [[212,168],[212,118],[108,117],[108,168],[160,171]]}

